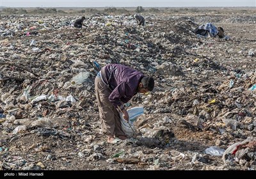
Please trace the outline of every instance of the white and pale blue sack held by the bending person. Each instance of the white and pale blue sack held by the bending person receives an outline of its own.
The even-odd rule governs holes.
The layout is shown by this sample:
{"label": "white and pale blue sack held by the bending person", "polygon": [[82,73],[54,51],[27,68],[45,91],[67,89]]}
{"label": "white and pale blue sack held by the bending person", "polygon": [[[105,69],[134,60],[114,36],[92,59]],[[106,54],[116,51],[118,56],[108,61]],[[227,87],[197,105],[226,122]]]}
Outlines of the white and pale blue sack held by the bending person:
{"label": "white and pale blue sack held by the bending person", "polygon": [[132,107],[131,109],[127,110],[127,113],[129,114],[129,121],[124,120],[123,114],[120,113],[121,118],[121,126],[122,130],[126,134],[127,137],[132,137],[134,134],[135,128],[134,128],[134,121],[137,120],[138,116],[144,113],[143,107]]}

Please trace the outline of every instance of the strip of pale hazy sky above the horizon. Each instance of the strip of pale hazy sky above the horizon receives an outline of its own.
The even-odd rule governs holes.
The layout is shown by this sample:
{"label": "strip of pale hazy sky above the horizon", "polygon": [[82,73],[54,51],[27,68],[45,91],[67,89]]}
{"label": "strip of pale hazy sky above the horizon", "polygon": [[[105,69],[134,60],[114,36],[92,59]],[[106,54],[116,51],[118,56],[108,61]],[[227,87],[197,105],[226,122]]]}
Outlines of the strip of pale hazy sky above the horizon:
{"label": "strip of pale hazy sky above the horizon", "polygon": [[17,7],[255,7],[256,0],[102,0],[102,1],[86,1],[86,0],[0,0],[0,6],[7,6],[11,8]]}

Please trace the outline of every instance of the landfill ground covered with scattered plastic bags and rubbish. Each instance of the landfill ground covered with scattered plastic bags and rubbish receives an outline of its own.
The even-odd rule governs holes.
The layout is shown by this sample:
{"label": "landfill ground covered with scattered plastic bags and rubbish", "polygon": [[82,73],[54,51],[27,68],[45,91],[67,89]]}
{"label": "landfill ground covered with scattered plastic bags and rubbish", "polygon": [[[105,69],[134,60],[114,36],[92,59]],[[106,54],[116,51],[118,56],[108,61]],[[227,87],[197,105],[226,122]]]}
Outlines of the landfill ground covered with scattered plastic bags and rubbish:
{"label": "landfill ground covered with scattered plastic bags and rubbish", "polygon": [[[256,169],[255,8],[142,13],[144,28],[98,13],[72,27],[82,15],[1,14],[1,170]],[[207,22],[225,38],[192,32]],[[155,79],[127,107],[144,109],[134,136],[115,144],[94,95],[107,63]]]}

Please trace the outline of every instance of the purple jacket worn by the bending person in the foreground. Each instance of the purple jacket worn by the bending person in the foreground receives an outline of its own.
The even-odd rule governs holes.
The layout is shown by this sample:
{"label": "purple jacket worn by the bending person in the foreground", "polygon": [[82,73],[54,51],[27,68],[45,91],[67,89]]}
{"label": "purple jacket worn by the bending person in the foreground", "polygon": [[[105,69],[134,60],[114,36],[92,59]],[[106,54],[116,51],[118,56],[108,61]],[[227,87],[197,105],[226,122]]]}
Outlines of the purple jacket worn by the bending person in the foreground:
{"label": "purple jacket worn by the bending person in the foreground", "polygon": [[137,88],[144,74],[129,66],[108,64],[101,68],[100,76],[112,91],[109,101],[116,108],[124,109],[124,104],[138,92]]}

